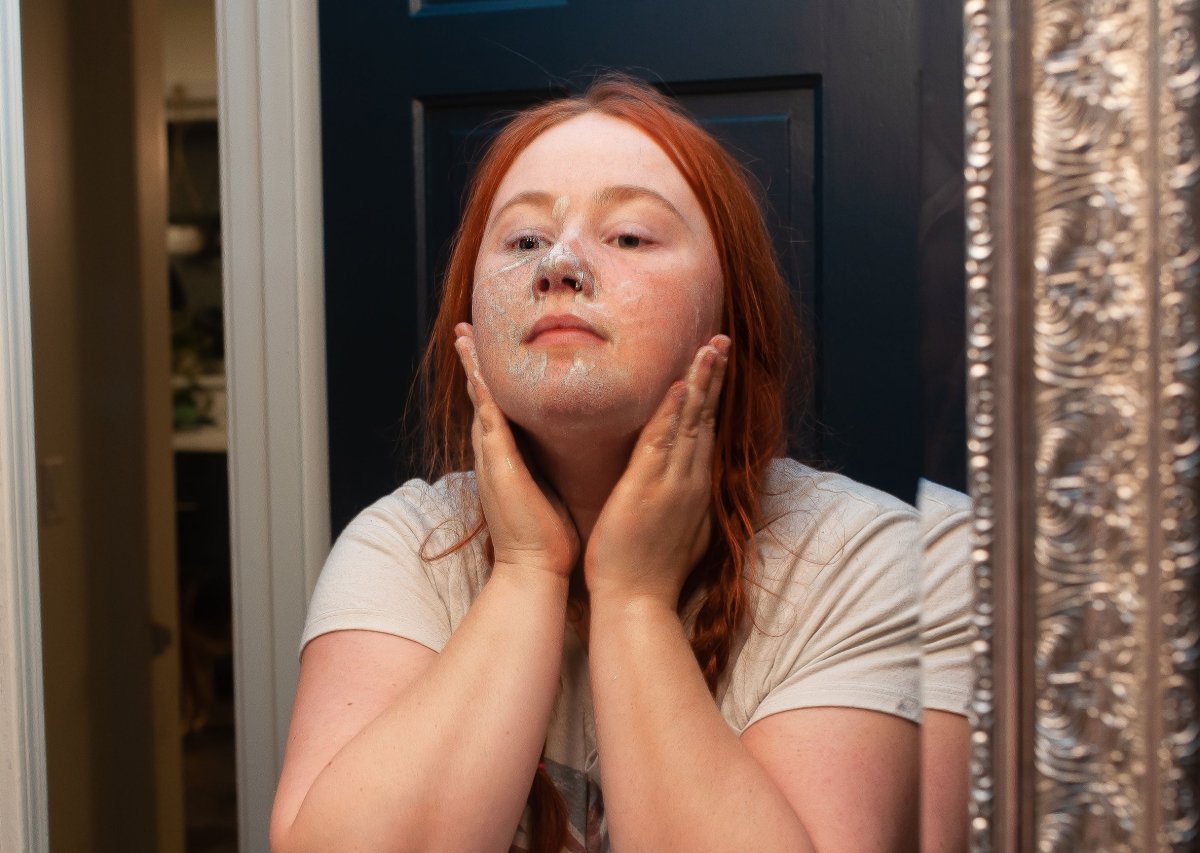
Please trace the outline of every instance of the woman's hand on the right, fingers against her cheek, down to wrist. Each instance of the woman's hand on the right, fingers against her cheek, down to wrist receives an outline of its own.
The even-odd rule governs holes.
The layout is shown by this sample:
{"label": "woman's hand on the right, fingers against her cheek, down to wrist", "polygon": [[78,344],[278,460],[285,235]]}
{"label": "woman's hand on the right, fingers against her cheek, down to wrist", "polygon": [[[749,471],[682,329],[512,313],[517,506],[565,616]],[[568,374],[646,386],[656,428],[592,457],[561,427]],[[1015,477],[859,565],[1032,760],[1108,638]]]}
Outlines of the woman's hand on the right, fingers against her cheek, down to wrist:
{"label": "woman's hand on the right, fingers against her cheek, down to wrist", "polygon": [[649,597],[678,603],[712,533],[713,446],[730,338],[716,335],[642,428],[584,555],[593,603]]}

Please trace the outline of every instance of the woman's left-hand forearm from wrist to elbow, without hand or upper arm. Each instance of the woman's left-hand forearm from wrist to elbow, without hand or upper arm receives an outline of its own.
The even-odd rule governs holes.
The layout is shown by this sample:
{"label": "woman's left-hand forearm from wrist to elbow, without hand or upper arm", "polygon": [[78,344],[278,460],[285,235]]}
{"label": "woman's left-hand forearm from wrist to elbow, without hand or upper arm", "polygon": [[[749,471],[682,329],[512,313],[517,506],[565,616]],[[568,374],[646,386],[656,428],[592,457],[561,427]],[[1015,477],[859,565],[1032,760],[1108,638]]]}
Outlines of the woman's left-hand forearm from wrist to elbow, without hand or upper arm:
{"label": "woman's left-hand forearm from wrist to elbow, without hand or upper arm", "polygon": [[562,665],[565,578],[497,569],[450,642],[320,771],[280,851],[508,849]]}

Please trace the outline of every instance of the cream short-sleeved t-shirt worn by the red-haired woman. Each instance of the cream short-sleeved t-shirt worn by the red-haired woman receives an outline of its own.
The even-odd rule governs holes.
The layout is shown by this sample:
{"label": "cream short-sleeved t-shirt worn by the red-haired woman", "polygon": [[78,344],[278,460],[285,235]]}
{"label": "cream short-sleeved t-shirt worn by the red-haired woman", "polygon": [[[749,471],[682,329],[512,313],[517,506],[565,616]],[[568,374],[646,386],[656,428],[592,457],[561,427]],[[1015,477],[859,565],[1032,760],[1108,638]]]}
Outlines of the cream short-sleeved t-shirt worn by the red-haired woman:
{"label": "cream short-sleeved t-shirt worn by the red-haired woman", "polygon": [[[730,727],[740,734],[772,714],[821,705],[919,721],[916,510],[845,476],[776,459],[762,512],[751,618],[716,696]],[[487,582],[484,536],[432,557],[476,521],[470,474],[410,480],[364,510],[325,563],[302,644],[353,629],[440,651]],[[684,608],[689,629],[697,605]],[[595,744],[587,654],[566,631],[545,764],[566,803],[576,849],[607,849]],[[527,846],[518,830],[514,848]]]}

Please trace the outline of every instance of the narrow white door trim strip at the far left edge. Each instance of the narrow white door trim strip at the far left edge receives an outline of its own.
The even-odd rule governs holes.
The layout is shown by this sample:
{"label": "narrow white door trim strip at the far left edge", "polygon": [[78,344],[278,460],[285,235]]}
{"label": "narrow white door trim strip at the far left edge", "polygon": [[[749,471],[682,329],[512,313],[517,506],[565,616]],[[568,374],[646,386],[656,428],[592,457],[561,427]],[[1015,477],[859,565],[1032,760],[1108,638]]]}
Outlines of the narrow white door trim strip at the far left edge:
{"label": "narrow white door trim strip at the far left edge", "polygon": [[0,0],[0,849],[49,849],[20,4]]}

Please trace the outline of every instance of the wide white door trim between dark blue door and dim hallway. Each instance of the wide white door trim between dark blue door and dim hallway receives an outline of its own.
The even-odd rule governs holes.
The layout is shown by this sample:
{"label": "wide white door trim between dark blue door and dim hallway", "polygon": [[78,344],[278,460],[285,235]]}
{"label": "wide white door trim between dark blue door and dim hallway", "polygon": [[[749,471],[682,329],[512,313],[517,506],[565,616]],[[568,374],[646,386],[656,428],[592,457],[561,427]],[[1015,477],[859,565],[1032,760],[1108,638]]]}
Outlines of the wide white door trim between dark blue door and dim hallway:
{"label": "wide white door trim between dark blue door and dim hallway", "polygon": [[239,837],[268,821],[329,551],[317,2],[217,0]]}

